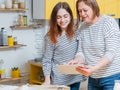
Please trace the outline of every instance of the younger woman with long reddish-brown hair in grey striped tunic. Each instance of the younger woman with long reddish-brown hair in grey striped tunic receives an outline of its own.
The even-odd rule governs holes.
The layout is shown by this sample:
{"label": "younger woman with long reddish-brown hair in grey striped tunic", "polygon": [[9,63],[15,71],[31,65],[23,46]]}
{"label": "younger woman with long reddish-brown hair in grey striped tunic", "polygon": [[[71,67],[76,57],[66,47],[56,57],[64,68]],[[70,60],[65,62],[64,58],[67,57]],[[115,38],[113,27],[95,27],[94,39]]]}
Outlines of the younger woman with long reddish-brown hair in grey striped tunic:
{"label": "younger woman with long reddish-brown hair in grey striped tunic", "polygon": [[43,58],[44,84],[68,85],[71,90],[79,90],[82,75],[64,75],[56,65],[64,64],[74,58],[78,42],[73,30],[73,14],[66,2],[59,2],[53,8],[50,29],[45,37]]}

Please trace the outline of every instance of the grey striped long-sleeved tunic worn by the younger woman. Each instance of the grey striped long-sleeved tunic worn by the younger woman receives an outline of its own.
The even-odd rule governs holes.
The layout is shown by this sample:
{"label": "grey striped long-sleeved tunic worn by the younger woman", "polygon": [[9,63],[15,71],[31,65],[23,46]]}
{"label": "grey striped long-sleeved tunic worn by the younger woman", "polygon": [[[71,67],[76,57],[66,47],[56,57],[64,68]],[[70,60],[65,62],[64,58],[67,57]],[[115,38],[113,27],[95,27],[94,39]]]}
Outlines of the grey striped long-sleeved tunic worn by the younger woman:
{"label": "grey striped long-sleeved tunic worn by the younger woman", "polygon": [[45,37],[45,53],[43,58],[44,75],[50,75],[54,85],[71,85],[84,80],[82,75],[65,75],[59,73],[57,64],[64,64],[72,60],[77,51],[77,40],[68,40],[64,34],[58,37],[58,42],[54,45],[48,36]]}

